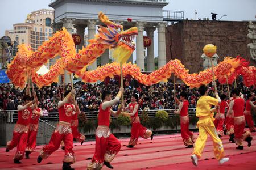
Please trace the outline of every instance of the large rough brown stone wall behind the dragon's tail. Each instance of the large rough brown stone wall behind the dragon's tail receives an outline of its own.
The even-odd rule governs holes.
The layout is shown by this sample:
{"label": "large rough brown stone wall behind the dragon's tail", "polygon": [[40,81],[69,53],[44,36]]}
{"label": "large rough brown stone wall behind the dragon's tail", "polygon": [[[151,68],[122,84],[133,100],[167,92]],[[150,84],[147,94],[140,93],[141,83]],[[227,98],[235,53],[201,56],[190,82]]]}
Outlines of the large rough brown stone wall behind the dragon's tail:
{"label": "large rough brown stone wall behind the dragon's tail", "polygon": [[255,62],[250,57],[247,44],[249,22],[183,20],[166,29],[166,59],[179,59],[189,73],[203,71],[201,54],[206,44],[217,46],[220,61],[226,56],[240,55]]}

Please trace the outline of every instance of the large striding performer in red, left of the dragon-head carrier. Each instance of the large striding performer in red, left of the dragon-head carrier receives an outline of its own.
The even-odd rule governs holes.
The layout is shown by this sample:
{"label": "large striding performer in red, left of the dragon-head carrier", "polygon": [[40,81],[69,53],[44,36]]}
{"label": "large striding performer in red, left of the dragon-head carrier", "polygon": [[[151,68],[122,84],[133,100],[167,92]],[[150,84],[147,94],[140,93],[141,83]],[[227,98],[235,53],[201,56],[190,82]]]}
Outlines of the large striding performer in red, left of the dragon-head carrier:
{"label": "large striding performer in red, left of the dragon-head carrier", "polygon": [[63,169],[73,169],[71,164],[75,163],[76,158],[73,152],[73,135],[71,130],[71,117],[76,113],[75,91],[66,91],[63,101],[59,101],[59,124],[52,134],[48,145],[45,145],[38,156],[38,163],[43,159],[48,158],[54,151],[60,147],[60,142],[63,140],[65,144],[65,156],[63,159]]}

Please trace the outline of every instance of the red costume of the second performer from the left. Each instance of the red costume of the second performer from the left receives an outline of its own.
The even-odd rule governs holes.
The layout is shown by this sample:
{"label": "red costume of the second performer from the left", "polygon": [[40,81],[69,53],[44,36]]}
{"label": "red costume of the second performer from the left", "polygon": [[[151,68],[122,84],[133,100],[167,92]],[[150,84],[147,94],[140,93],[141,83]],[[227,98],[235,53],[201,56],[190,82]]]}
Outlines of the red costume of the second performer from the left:
{"label": "red costume of the second performer from the left", "polygon": [[[41,116],[43,114],[41,108],[36,108],[34,109],[34,111],[40,112]],[[34,111],[32,111],[29,129],[28,129],[28,141],[27,141],[26,152],[29,152],[29,153],[31,153],[36,147],[36,134],[38,133],[38,120],[40,117],[40,115],[35,114]]]}

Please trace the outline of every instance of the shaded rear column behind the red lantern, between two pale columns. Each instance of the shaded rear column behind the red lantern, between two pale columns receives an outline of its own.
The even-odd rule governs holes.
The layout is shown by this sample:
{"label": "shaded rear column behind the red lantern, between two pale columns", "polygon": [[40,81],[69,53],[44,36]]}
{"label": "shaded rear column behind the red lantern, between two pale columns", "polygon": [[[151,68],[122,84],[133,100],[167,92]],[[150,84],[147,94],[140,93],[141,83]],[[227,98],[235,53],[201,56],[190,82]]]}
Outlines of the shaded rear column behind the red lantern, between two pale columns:
{"label": "shaded rear column behind the red lantern, between two pale columns", "polygon": [[155,27],[147,27],[147,37],[151,39],[151,45],[147,47],[147,71],[155,70],[155,54],[154,54],[154,31]]}

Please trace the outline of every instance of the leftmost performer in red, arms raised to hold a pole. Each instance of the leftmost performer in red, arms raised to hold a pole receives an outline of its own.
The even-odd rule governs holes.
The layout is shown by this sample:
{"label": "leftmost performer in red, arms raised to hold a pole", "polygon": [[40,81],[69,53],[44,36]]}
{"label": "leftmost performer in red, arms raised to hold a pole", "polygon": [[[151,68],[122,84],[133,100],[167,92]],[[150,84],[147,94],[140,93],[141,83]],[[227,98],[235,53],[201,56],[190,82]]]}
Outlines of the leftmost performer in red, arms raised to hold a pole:
{"label": "leftmost performer in red, arms raised to hold a pole", "polygon": [[27,146],[30,118],[32,110],[34,109],[34,105],[32,104],[36,103],[36,98],[31,101],[31,98],[28,95],[24,96],[23,100],[24,105],[18,105],[18,121],[14,126],[13,139],[7,142],[6,146],[6,152],[9,152],[15,146],[17,146],[17,151],[14,156],[14,163],[21,163],[20,160],[22,160],[24,157]]}

